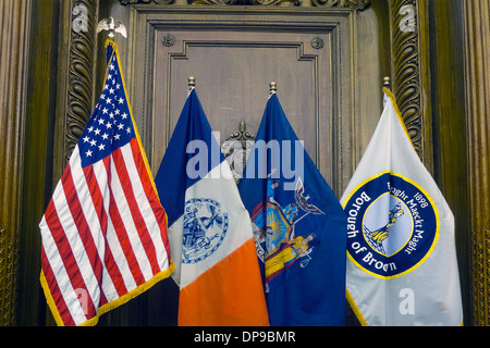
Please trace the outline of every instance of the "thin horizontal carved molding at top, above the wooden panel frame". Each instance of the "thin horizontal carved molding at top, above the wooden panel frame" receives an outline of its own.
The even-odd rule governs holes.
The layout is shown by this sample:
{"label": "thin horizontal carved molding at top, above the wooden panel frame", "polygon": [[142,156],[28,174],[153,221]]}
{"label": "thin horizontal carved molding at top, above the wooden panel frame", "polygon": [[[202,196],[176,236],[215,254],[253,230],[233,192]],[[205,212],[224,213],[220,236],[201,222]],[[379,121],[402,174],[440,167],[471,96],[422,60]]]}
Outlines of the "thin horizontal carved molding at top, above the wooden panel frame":
{"label": "thin horizontal carved molding at top, above the wooden panel frame", "polygon": [[[310,5],[338,9],[353,9],[363,11],[367,9],[371,0],[310,0]],[[120,0],[122,4],[172,4],[174,0]],[[220,5],[275,5],[291,2],[293,5],[303,5],[303,0],[187,0],[189,4],[220,4]]]}

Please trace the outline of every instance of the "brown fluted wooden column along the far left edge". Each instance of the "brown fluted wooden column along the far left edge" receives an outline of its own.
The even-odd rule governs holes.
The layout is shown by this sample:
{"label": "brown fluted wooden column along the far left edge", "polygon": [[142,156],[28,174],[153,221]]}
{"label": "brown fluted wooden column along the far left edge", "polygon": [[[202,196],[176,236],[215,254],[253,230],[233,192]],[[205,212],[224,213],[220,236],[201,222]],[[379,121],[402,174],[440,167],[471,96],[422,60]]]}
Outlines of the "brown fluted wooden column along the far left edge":
{"label": "brown fluted wooden column along the far left edge", "polygon": [[0,326],[15,324],[30,1],[0,2]]}

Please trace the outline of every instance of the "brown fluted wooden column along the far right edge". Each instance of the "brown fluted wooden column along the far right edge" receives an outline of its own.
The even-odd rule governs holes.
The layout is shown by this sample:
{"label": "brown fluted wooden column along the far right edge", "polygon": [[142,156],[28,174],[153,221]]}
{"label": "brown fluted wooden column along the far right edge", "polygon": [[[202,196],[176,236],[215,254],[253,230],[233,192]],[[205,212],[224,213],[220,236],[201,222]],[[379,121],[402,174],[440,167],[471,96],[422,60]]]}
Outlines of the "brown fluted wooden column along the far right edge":
{"label": "brown fluted wooden column along the far right edge", "polygon": [[473,325],[490,325],[490,3],[464,1]]}

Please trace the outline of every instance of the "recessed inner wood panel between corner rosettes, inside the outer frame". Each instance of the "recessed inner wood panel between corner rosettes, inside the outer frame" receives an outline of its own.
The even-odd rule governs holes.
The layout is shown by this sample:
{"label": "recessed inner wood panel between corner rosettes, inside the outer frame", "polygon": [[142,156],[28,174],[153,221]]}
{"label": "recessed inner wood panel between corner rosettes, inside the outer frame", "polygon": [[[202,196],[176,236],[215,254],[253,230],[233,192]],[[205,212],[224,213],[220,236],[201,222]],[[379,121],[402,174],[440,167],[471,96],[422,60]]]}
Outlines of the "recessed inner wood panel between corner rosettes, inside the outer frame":
{"label": "recessed inner wood panel between corner rosettes, inside the outer frame", "polygon": [[[329,48],[311,40],[329,40],[328,34],[159,32],[157,41],[175,36],[172,47],[157,48],[154,162],[158,165],[187,96],[187,77],[196,89],[219,142],[244,120],[258,129],[269,94],[278,96],[314,161],[331,178],[327,159],[332,148],[329,86]],[[164,83],[166,82],[166,83]],[[162,132],[164,130],[164,132]],[[163,135],[164,134],[164,135]],[[323,161],[321,161],[321,159]],[[323,163],[321,166],[320,163]]]}

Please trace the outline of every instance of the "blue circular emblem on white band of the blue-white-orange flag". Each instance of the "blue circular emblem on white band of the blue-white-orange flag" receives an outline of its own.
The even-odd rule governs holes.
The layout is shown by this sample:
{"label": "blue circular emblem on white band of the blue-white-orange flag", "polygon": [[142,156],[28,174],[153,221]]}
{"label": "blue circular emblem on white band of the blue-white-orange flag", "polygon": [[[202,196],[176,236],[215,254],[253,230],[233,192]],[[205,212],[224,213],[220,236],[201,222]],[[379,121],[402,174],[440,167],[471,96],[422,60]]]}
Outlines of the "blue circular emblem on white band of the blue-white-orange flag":
{"label": "blue circular emblem on white band of the blue-white-orange flag", "polygon": [[182,261],[196,263],[221,246],[228,231],[228,213],[216,200],[193,198],[185,202]]}

